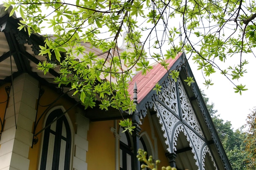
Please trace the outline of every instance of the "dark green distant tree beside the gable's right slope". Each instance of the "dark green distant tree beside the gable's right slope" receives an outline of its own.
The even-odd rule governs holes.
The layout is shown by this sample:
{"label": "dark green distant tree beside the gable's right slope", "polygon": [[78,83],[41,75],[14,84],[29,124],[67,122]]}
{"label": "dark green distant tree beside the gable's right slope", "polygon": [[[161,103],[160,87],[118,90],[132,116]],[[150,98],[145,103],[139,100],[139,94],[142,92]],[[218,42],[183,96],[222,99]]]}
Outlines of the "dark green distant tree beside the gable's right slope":
{"label": "dark green distant tree beside the gable's right slope", "polygon": [[203,91],[202,96],[233,170],[248,170],[246,166],[251,159],[245,150],[247,133],[243,132],[243,127],[234,131],[230,121],[224,122],[220,115],[216,115],[217,110],[214,110],[214,104],[208,103],[209,98]]}

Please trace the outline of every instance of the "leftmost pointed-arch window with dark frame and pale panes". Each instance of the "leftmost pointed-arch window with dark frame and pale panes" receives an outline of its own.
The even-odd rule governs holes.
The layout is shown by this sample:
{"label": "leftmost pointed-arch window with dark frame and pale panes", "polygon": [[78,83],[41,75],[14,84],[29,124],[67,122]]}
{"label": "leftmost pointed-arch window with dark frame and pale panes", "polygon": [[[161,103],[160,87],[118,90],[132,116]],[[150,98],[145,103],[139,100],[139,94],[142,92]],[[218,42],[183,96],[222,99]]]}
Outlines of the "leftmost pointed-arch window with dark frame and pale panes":
{"label": "leftmost pointed-arch window with dark frame and pale panes", "polygon": [[44,132],[40,170],[70,170],[71,131],[61,115],[63,111],[56,109],[47,117],[45,126],[50,126]]}

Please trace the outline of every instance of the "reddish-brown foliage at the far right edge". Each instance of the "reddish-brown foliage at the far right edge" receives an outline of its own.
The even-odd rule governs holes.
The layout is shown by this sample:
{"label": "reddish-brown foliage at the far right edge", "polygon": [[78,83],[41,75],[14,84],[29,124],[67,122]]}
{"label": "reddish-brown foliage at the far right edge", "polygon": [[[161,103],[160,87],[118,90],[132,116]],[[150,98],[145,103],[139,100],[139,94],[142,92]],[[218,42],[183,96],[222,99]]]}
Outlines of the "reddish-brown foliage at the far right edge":
{"label": "reddish-brown foliage at the far right edge", "polygon": [[251,113],[247,116],[247,137],[245,139],[245,150],[247,155],[247,170],[256,169],[256,108],[251,110]]}

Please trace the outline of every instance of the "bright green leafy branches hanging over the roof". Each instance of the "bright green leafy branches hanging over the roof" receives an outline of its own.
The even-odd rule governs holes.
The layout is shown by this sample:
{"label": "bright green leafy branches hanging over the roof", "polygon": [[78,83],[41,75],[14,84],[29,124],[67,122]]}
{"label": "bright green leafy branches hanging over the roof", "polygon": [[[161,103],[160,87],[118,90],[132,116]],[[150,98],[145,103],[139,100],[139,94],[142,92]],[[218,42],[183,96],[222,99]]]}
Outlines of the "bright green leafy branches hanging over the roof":
{"label": "bright green leafy branches hanging over the roof", "polygon": [[[102,109],[112,106],[134,111],[135,104],[127,92],[132,68],[146,73],[152,68],[148,59],[167,67],[166,60],[183,50],[189,58],[192,56],[204,77],[220,71],[234,84],[236,93],[247,90],[233,80],[246,72],[248,61],[242,54],[252,53],[255,47],[254,1],[9,0],[4,6],[13,7],[10,15],[20,13],[23,20],[18,29],[29,35],[41,33],[46,25],[52,29],[49,32],[54,35],[45,35],[45,46],[40,46],[40,54],[51,62],[43,62],[38,68],[47,72],[59,67],[61,76],[56,82],[71,84],[85,108],[95,106],[100,98]],[[173,26],[175,17],[182,20],[181,29]],[[184,40],[177,42],[182,32]],[[119,51],[122,36],[127,50]],[[92,52],[83,43],[101,52]],[[99,57],[102,54],[106,57]],[[78,55],[82,55],[79,61]],[[238,57],[235,66],[221,67],[231,56]],[[170,76],[177,78],[179,71],[171,71]],[[185,81],[189,85],[194,82],[193,77]],[[212,84],[205,78],[206,86]]]}

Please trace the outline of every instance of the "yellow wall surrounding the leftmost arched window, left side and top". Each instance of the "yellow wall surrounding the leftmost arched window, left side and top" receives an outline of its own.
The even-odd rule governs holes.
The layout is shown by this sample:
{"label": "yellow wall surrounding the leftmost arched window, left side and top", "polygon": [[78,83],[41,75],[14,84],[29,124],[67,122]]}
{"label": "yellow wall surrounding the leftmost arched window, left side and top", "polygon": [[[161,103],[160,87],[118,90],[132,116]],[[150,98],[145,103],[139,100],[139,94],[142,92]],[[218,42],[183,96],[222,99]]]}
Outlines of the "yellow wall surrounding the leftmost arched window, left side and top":
{"label": "yellow wall surrounding the leftmost arched window, left side and top", "polygon": [[[52,102],[54,102],[55,99],[58,98],[59,94],[56,93],[55,91],[53,91],[52,89],[46,87],[46,86],[42,86],[41,88],[43,88],[45,90],[43,96],[40,99],[39,104],[41,106],[38,107],[38,115],[37,115],[37,119],[40,117],[40,115],[43,114],[43,112],[47,109],[47,107],[43,107],[46,106],[48,104],[51,104]],[[55,107],[55,106],[64,106],[65,109],[69,109],[70,107],[72,107],[73,103],[71,103],[70,101],[68,101],[67,99],[64,99],[63,97],[58,99],[52,106],[51,108]],[[70,119],[73,122],[73,127],[74,127],[74,122],[75,122],[75,113],[77,112],[77,108],[73,108],[72,110],[68,111],[68,115],[70,117]],[[43,123],[45,121],[45,115],[40,119],[39,124],[36,128],[36,132],[40,131],[43,128]],[[38,136],[38,143],[33,145],[33,148],[30,148],[29,150],[29,170],[37,170],[38,169],[38,163],[39,163],[39,158],[40,158],[40,143],[41,143],[41,138],[42,138],[42,133],[40,133]]]}

